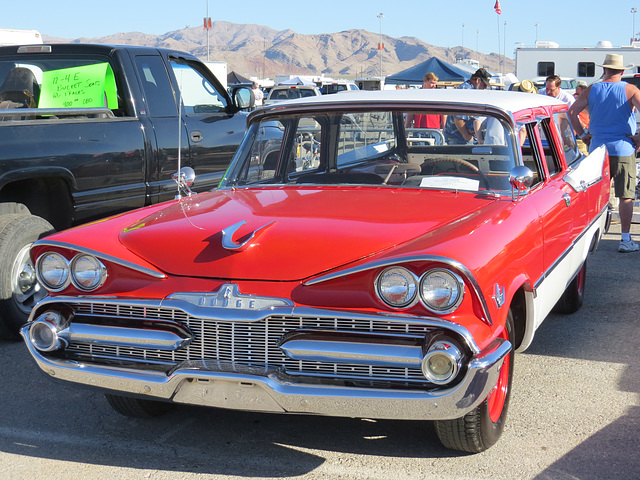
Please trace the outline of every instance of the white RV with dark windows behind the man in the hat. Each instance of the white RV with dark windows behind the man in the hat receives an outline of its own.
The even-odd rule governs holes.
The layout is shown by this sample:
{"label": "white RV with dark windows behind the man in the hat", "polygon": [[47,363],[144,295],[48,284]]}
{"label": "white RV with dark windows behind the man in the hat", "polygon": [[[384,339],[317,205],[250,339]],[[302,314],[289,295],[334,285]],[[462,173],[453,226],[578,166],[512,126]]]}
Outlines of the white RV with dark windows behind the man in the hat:
{"label": "white RV with dark windows behind the man in the hat", "polygon": [[598,42],[595,47],[560,47],[555,42],[536,42],[535,47],[516,48],[516,77],[520,80],[558,75],[583,80],[588,84],[602,76],[598,67],[608,53],[624,56],[625,65],[634,64],[627,73],[640,72],[640,42],[614,47],[611,42]]}

